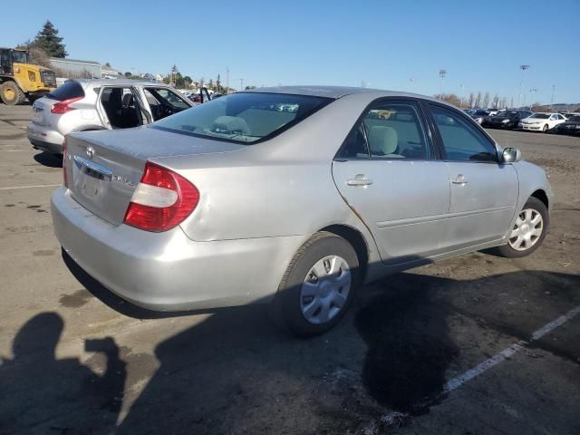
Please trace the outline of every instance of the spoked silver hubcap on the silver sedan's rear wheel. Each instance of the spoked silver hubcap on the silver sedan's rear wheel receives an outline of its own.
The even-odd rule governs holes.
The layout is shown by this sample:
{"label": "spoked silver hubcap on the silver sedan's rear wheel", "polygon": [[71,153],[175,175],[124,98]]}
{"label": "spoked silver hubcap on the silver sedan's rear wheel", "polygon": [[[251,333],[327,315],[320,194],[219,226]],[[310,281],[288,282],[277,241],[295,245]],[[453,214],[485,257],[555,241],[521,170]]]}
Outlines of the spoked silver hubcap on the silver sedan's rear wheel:
{"label": "spoked silver hubcap on the silver sedan's rear wheel", "polygon": [[300,309],[311,324],[324,324],[343,309],[351,291],[351,271],[341,256],[325,256],[304,277]]}

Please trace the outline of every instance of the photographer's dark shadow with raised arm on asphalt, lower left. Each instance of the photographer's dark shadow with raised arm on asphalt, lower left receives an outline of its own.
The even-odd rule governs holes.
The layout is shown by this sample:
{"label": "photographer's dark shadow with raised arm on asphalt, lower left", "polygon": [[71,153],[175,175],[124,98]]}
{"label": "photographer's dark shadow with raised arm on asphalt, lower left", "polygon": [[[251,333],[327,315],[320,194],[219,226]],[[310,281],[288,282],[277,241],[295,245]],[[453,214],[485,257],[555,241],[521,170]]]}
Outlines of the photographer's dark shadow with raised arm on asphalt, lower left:
{"label": "photographer's dark shadow with raised arm on asphalt, lower left", "polygon": [[0,433],[109,433],[115,428],[126,379],[111,337],[87,341],[107,359],[104,374],[77,358],[55,358],[63,333],[59,314],[30,319],[14,337],[14,359],[0,360]]}

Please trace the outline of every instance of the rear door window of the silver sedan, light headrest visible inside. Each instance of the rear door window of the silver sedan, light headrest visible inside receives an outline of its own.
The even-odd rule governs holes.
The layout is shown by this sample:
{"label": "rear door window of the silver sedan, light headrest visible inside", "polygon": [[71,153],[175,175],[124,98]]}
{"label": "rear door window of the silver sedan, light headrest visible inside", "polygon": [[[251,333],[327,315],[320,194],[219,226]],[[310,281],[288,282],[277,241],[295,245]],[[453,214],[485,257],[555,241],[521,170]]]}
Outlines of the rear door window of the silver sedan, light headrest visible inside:
{"label": "rear door window of the silver sedan, light headrest visible inside", "polygon": [[372,158],[430,159],[420,114],[413,102],[380,102],[372,106],[362,126]]}

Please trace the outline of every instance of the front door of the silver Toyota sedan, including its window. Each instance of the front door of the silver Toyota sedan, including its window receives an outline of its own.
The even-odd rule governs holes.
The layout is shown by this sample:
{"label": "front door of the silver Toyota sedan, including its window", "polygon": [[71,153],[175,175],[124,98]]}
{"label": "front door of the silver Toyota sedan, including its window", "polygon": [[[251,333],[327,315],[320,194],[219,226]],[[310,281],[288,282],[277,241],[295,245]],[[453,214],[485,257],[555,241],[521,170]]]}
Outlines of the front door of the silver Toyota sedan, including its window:
{"label": "front door of the silver Toyota sedan, including its window", "polygon": [[452,251],[500,239],[517,205],[516,169],[498,162],[493,140],[467,116],[437,103],[428,106],[451,189],[442,247]]}

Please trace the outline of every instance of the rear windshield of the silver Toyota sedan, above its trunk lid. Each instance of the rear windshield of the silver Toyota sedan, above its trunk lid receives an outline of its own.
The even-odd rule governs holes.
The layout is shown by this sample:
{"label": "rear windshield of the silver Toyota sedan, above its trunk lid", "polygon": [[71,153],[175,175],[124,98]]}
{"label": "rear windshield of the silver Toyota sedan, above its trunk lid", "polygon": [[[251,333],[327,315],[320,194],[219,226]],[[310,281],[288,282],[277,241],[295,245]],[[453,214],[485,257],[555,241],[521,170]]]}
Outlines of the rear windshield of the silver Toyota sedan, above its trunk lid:
{"label": "rear windshield of the silver Toyota sedan, above its trunk lid", "polygon": [[333,100],[284,93],[239,92],[157,121],[152,128],[204,138],[267,140]]}

